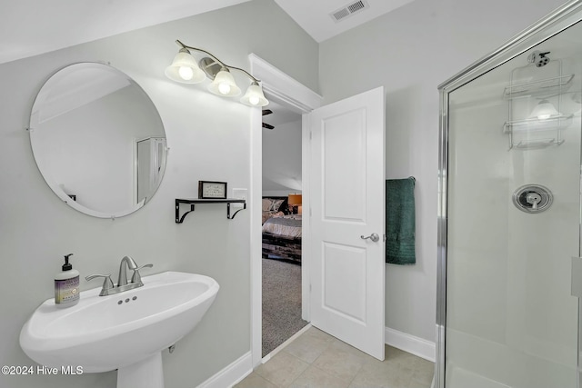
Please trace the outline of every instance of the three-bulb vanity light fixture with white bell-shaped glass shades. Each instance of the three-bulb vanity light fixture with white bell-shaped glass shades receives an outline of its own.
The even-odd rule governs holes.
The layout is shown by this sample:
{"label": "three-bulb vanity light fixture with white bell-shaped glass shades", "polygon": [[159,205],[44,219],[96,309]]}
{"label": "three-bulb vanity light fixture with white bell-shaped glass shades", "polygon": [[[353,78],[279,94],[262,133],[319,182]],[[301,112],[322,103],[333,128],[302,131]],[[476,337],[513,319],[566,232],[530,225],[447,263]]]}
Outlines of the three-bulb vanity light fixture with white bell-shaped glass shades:
{"label": "three-bulb vanity light fixture with white bell-shaped glass shades", "polygon": [[[208,77],[213,80],[208,85],[210,92],[215,95],[234,97],[240,95],[241,90],[236,85],[235,78],[230,71],[237,70],[251,79],[251,85],[246,89],[246,94],[240,99],[240,102],[249,106],[265,106],[269,104],[263,94],[263,88],[259,85],[260,81],[246,72],[246,70],[226,65],[220,59],[216,58],[215,55],[201,48],[184,45],[179,40],[176,40],[176,44],[180,46],[180,50],[174,58],[172,65],[166,67],[166,76],[172,81],[184,84],[198,84]],[[196,59],[190,53],[191,50],[209,56],[205,56],[196,62]]]}

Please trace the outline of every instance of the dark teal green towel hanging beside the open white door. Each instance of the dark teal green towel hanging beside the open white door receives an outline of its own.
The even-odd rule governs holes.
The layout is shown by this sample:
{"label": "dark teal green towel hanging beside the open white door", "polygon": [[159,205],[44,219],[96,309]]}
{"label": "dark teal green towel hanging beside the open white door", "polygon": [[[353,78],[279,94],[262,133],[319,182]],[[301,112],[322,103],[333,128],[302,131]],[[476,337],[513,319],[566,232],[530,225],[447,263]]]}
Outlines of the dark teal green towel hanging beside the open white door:
{"label": "dark teal green towel hanging beside the open white door", "polygon": [[415,182],[386,180],[386,263],[416,264]]}

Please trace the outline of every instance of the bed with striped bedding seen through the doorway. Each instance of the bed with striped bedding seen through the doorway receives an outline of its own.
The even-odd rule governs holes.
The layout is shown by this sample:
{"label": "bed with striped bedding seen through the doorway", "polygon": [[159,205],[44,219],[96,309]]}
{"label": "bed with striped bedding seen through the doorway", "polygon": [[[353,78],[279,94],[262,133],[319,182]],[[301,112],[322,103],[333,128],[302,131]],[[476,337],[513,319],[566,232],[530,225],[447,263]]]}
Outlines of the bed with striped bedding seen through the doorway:
{"label": "bed with striped bedding seen through the doorway", "polygon": [[301,261],[301,214],[289,214],[287,197],[263,197],[263,257]]}

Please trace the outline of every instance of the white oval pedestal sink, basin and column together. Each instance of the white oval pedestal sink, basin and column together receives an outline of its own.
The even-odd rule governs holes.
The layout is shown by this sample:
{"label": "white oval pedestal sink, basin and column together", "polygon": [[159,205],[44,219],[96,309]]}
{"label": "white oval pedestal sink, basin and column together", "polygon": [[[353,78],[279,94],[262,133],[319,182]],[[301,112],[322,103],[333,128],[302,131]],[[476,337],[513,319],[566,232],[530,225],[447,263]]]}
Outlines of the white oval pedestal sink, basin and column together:
{"label": "white oval pedestal sink, basin and column together", "polygon": [[124,293],[84,291],[66,309],[45,301],[23,326],[20,346],[36,363],[59,371],[117,369],[118,388],[163,388],[161,352],[200,322],[219,286],[208,276],[179,272],[142,280],[143,287]]}

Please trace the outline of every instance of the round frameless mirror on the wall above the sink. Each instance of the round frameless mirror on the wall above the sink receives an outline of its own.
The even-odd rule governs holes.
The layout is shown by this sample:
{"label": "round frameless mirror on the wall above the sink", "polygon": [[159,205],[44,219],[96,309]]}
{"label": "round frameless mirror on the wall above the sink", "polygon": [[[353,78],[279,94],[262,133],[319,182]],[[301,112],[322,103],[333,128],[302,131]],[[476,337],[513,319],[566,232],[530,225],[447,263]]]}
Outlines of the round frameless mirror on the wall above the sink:
{"label": "round frameless mirror on the wall above the sink", "polygon": [[109,65],[69,65],[51,76],[36,96],[29,132],[46,183],[85,214],[133,213],[162,181],[166,133],[156,106]]}

